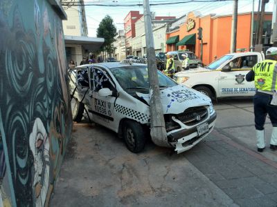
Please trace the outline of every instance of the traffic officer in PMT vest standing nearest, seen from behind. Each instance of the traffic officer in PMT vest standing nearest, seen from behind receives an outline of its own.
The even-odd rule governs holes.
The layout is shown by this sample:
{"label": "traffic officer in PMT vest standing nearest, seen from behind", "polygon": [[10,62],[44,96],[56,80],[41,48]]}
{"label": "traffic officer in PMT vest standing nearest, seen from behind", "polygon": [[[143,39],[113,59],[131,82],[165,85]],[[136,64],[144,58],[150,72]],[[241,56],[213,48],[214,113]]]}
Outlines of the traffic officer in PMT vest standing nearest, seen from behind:
{"label": "traffic officer in PMT vest standing nearest, seen from behind", "polygon": [[246,79],[255,81],[256,87],[253,103],[258,152],[265,149],[264,126],[267,114],[273,126],[270,148],[277,150],[277,48],[269,48],[265,61],[256,63]]}

